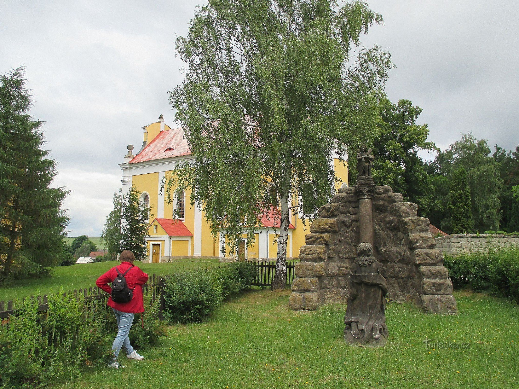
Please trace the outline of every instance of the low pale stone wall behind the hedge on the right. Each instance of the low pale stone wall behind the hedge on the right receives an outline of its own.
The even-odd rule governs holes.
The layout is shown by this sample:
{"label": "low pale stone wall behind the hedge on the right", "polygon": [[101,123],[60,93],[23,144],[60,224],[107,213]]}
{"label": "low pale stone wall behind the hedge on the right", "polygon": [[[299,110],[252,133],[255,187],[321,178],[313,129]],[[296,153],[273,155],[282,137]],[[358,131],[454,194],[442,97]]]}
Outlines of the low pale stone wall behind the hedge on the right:
{"label": "low pale stone wall behind the hedge on the right", "polygon": [[485,252],[490,247],[519,247],[519,235],[517,234],[450,234],[434,240],[436,247],[444,255]]}

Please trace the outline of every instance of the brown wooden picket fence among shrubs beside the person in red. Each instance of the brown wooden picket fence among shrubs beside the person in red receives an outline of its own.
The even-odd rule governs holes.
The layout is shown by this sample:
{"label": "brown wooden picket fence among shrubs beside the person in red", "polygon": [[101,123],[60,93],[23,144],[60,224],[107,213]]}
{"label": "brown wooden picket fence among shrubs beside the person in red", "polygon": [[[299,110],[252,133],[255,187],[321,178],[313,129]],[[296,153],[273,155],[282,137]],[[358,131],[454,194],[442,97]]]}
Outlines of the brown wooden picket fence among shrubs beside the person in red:
{"label": "brown wooden picket fence among shrubs beside the person in red", "polygon": [[[152,291],[152,302],[155,302],[157,298],[160,297],[159,302],[159,310],[162,312],[162,309],[164,307],[164,300],[161,294],[158,293],[158,290],[162,288],[163,285],[163,279],[160,276],[157,276],[153,274],[151,277],[149,277],[148,282],[144,285],[144,291],[151,290]],[[90,288],[84,288],[84,289],[75,289],[69,292],[66,292],[63,294],[63,296],[66,295],[73,295],[75,298],[84,297],[87,300],[107,300],[108,294],[103,290],[95,287]],[[44,296],[31,296],[26,297],[27,298],[36,298],[38,300],[38,312],[46,312],[49,310],[49,303],[47,299],[47,295]],[[25,300],[23,299],[23,300]],[[15,312],[15,302],[12,300],[9,301],[0,301],[0,324],[4,324],[4,321]],[[160,315],[159,315],[160,316]]]}

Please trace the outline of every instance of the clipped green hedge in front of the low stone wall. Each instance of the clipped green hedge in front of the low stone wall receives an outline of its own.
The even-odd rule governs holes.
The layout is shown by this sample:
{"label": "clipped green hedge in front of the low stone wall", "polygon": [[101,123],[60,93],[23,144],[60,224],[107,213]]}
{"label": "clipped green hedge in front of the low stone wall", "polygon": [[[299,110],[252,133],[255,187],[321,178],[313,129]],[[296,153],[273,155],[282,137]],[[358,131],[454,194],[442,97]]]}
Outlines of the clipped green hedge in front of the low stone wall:
{"label": "clipped green hedge in front of the low stone wall", "polygon": [[519,303],[519,248],[490,248],[478,254],[446,256],[454,288],[469,286],[474,291],[489,291]]}

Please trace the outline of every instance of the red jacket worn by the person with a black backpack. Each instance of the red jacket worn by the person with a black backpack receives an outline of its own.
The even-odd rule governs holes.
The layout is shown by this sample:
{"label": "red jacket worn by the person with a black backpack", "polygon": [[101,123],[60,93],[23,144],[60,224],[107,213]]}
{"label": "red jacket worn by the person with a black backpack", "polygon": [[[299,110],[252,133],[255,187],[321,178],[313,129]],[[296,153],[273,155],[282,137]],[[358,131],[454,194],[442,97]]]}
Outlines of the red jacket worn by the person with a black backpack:
{"label": "red jacket worn by the person with a black backpack", "polygon": [[[142,302],[142,285],[144,285],[146,281],[148,281],[148,275],[130,262],[125,261],[121,262],[120,265],[117,265],[117,269],[119,269],[120,274],[124,274],[124,272],[127,271],[128,268],[132,269],[128,271],[128,273],[126,273],[125,278],[126,284],[130,289],[133,289],[135,287],[135,289],[133,290],[133,298],[131,299],[131,301],[128,302],[118,303],[112,301],[112,296],[110,296],[106,304],[108,305],[108,307],[115,308],[116,310],[121,312],[144,312],[144,304]],[[108,284],[112,283],[115,280],[115,277],[117,277],[117,270],[115,270],[114,267],[108,270],[102,276],[100,276],[98,280],[95,281],[95,285],[99,286],[106,293],[111,295],[112,288],[108,286]]]}

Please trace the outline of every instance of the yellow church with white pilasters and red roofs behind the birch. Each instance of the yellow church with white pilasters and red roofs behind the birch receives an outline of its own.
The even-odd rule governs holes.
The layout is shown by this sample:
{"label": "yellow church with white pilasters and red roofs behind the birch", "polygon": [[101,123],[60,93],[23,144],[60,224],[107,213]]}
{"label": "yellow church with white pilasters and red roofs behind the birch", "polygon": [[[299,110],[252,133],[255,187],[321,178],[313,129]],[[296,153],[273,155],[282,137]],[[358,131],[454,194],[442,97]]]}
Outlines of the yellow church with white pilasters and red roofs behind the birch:
{"label": "yellow church with white pilasters and red roofs behind the birch", "polygon": [[[175,169],[178,162],[192,158],[189,145],[184,139],[182,128],[171,128],[160,115],[157,122],[142,127],[144,140],[142,147],[133,155],[133,146],[128,146],[128,154],[122,169],[122,193],[134,186],[140,193],[141,203],[149,209],[148,236],[146,237],[149,262],[166,262],[179,257],[218,257],[221,261],[234,258],[246,260],[272,260],[277,256],[279,220],[265,215],[255,231],[255,242],[249,247],[243,238],[239,247],[228,257],[225,249],[225,231],[211,235],[210,225],[201,206],[190,205],[189,192],[176,193],[172,203],[168,203],[161,190],[162,179]],[[345,147],[345,145],[343,145]],[[332,160],[335,175],[339,178],[338,187],[348,185],[348,168],[339,160],[333,150]],[[173,210],[179,209],[180,219],[173,219]],[[297,210],[291,215],[289,240],[286,256],[299,256],[299,247],[305,244],[310,223],[303,223]],[[227,256],[226,254],[227,253]]]}

